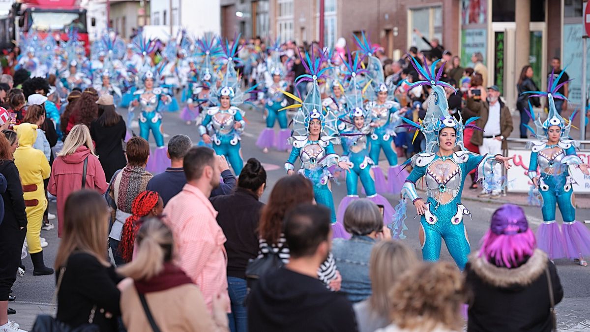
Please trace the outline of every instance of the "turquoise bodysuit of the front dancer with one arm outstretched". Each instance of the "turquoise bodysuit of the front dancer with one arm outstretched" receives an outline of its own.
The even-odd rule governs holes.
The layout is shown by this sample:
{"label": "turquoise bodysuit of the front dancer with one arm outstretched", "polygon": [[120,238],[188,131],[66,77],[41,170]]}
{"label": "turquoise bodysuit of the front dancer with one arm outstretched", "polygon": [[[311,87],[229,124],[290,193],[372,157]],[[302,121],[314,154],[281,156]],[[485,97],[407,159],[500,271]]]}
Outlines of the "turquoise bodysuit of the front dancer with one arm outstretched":
{"label": "turquoise bodysuit of the front dancer with one arm outstretched", "polygon": [[448,252],[457,266],[463,270],[471,250],[463,216],[471,213],[461,203],[461,192],[467,174],[477,168],[479,175],[490,172],[489,161],[494,155],[478,155],[469,151],[457,151],[448,157],[438,154],[417,154],[412,157],[414,169],[409,174],[402,193],[412,201],[421,199],[415,184],[425,176],[427,200],[426,211],[420,225],[424,234],[422,258],[424,261],[438,261],[441,239],[445,240]]}

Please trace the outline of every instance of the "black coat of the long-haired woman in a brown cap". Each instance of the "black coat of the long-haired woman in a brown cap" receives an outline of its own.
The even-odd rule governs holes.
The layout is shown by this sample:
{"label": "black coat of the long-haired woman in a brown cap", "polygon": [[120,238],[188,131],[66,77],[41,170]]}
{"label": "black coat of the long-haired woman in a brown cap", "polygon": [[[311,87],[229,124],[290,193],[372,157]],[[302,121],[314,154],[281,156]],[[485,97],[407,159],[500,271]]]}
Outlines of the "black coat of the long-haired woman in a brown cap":
{"label": "black coat of the long-haired woman in a brown cap", "polygon": [[114,126],[104,126],[100,123],[100,119],[94,120],[90,125],[90,135],[96,144],[96,154],[99,156],[104,177],[107,179],[112,178],[114,172],[127,164],[123,152],[123,140],[126,132],[127,128],[123,118],[120,118]]}

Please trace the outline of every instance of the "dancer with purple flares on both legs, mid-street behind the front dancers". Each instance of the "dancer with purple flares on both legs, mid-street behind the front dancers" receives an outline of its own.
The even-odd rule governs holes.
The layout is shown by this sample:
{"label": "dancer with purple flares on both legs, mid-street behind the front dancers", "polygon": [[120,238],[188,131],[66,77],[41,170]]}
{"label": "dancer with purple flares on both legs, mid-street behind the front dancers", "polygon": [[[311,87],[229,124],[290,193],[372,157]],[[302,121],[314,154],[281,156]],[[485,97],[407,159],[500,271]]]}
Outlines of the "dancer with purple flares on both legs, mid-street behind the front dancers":
{"label": "dancer with purple flares on both legs, mid-street behind the front dancers", "polygon": [[[272,80],[266,82],[266,128],[258,136],[256,145],[263,149],[264,153],[268,152],[268,148],[275,147],[279,151],[287,151],[290,148],[287,140],[291,136],[290,129],[287,128],[287,98],[281,91],[287,90],[287,82],[283,79],[283,64],[280,60],[280,44],[277,41],[276,47],[273,50],[273,60],[271,61],[270,72]],[[280,131],[278,135],[274,133],[274,122],[278,121]]]}

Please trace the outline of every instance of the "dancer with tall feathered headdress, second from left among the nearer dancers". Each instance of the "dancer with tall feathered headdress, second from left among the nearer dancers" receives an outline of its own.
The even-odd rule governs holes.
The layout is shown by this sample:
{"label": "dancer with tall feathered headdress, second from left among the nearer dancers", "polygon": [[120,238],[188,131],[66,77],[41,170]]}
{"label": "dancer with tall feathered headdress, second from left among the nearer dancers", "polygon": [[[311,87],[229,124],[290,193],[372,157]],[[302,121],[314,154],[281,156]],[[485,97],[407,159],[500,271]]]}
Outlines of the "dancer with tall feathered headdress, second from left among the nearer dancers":
{"label": "dancer with tall feathered headdress, second from left among the nearer dancers", "polygon": [[[212,89],[211,102],[219,105],[211,107],[205,113],[205,117],[199,125],[199,135],[205,144],[213,143],[213,149],[218,155],[224,155],[230,162],[235,174],[240,174],[244,161],[241,156],[241,134],[244,131],[246,122],[244,121],[244,111],[237,107],[244,101],[244,95],[240,89],[240,78],[235,71],[234,61],[237,58],[238,38],[235,38],[230,46],[226,40],[222,45],[224,55],[221,56],[227,61],[225,75],[220,87]],[[207,133],[207,126],[213,125],[213,135]]]}

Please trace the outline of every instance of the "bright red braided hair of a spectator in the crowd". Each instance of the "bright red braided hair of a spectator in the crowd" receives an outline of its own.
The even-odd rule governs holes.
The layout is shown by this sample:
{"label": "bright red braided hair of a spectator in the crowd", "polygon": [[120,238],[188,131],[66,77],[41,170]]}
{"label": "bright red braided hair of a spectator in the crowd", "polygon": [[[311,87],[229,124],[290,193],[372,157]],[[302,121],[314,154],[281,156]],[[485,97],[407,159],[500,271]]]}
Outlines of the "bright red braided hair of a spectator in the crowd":
{"label": "bright red braided hair of a spectator in the crowd", "polygon": [[164,210],[162,197],[155,191],[146,190],[137,195],[131,205],[132,216],[125,220],[119,253],[126,263],[131,262],[133,258],[133,247],[135,246],[135,236],[139,227],[142,226],[142,218],[146,216],[157,217]]}

